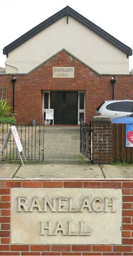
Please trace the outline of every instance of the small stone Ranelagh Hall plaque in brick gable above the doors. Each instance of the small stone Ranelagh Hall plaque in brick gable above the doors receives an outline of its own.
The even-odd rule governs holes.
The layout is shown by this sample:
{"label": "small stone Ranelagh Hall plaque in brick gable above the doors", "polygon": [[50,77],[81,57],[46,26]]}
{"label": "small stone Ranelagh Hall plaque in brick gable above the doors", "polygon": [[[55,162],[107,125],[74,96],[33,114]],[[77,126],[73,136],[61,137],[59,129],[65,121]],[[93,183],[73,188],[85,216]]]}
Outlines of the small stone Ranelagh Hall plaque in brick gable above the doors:
{"label": "small stone Ranelagh Hall plaque in brick gable above the doors", "polygon": [[74,68],[73,67],[53,67],[53,77],[74,78]]}

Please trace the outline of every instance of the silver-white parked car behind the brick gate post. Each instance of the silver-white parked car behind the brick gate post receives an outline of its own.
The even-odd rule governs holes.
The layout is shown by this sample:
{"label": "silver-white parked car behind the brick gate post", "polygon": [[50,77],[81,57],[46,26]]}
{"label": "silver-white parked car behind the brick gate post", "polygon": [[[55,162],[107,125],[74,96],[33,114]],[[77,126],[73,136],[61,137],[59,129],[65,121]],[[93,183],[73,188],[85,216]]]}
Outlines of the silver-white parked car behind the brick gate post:
{"label": "silver-white parked car behind the brick gate post", "polygon": [[130,115],[133,113],[133,100],[106,100],[102,102],[97,108],[95,115],[105,115],[111,118],[121,117],[123,115]]}

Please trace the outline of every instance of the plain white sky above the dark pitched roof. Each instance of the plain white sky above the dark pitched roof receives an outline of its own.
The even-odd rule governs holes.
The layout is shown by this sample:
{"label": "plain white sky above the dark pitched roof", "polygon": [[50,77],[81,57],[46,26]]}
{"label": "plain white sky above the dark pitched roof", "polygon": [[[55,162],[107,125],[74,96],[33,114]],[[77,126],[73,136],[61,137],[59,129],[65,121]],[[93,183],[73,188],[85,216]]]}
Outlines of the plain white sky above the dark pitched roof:
{"label": "plain white sky above the dark pitched roof", "polygon": [[66,5],[133,48],[133,0],[0,0],[0,66],[5,46]]}

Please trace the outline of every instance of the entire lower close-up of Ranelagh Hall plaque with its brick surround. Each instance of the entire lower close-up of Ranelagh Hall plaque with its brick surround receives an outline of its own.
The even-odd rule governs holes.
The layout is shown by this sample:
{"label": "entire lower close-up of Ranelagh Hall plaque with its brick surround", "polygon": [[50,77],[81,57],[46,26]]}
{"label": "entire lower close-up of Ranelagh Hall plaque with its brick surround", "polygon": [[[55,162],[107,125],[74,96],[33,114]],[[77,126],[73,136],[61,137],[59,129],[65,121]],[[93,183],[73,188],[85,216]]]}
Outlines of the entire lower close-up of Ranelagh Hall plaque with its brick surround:
{"label": "entire lower close-up of Ranelagh Hall plaque with its brick surround", "polygon": [[2,255],[133,256],[133,180],[0,180]]}

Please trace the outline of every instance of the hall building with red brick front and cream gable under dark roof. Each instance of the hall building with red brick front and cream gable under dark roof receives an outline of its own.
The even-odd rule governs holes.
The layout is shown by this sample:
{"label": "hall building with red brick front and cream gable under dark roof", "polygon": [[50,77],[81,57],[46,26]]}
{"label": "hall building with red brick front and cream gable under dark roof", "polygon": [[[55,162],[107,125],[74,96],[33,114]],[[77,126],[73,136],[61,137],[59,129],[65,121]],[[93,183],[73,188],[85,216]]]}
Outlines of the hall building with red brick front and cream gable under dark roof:
{"label": "hall building with red brick front and cream gable under dark roof", "polygon": [[45,109],[54,109],[55,124],[89,121],[95,108],[112,99],[132,99],[130,47],[114,38],[69,6],[55,13],[3,49],[6,73],[0,87],[8,87],[18,123],[38,124]]}

